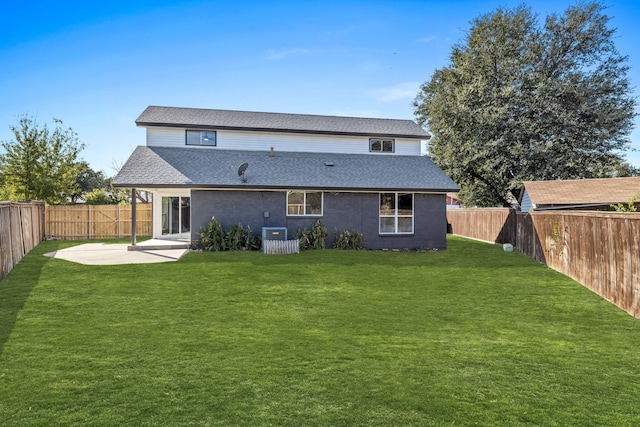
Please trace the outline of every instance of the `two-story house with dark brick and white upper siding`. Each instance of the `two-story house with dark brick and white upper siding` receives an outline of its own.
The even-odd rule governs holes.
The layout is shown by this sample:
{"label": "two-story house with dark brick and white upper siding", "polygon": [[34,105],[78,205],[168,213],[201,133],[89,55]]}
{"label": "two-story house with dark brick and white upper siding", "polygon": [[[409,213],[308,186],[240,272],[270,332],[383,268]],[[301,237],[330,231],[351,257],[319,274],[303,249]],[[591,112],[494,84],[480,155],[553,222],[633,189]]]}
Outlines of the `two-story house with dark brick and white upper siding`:
{"label": "two-story house with dark brick and white upper siding", "polygon": [[148,107],[146,145],[113,183],[153,194],[153,237],[197,239],[213,216],[289,237],[320,219],[369,249],[446,247],[446,193],[410,120]]}

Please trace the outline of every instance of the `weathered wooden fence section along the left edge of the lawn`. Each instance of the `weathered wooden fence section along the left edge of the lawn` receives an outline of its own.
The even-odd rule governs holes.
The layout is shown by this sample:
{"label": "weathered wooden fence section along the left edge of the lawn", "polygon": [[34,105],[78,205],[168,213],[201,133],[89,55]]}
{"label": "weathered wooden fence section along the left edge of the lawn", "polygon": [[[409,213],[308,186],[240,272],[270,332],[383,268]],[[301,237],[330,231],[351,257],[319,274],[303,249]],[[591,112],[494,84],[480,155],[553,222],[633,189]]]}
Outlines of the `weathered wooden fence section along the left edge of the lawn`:
{"label": "weathered wooden fence section along the left edge of the lawn", "polygon": [[43,202],[0,202],[0,280],[44,238]]}

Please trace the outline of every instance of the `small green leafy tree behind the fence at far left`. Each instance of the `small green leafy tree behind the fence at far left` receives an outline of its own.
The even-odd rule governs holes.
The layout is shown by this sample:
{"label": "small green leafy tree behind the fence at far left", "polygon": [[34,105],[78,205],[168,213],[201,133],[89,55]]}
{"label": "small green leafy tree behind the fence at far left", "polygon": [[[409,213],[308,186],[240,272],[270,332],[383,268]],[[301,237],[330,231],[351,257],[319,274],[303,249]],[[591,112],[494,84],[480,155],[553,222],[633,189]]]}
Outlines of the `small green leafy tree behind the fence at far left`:
{"label": "small green leafy tree behind the fence at far left", "polygon": [[54,123],[50,130],[22,116],[17,126],[10,126],[14,139],[2,142],[5,152],[0,154],[3,196],[64,204],[77,192],[81,171],[77,159],[84,145],[61,120],[54,119]]}

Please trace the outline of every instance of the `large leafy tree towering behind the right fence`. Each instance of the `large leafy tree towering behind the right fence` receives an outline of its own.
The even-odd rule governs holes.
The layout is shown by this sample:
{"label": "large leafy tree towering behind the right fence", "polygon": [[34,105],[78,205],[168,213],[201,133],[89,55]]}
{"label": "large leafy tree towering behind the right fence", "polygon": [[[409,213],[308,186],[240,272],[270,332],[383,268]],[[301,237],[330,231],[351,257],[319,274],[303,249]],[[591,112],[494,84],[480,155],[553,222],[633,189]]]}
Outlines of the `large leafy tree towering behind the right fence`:
{"label": "large leafy tree towering behind the right fence", "polygon": [[543,25],[526,6],[480,16],[414,100],[429,154],[467,205],[512,205],[522,182],[615,175],[633,128],[627,57],[599,2]]}

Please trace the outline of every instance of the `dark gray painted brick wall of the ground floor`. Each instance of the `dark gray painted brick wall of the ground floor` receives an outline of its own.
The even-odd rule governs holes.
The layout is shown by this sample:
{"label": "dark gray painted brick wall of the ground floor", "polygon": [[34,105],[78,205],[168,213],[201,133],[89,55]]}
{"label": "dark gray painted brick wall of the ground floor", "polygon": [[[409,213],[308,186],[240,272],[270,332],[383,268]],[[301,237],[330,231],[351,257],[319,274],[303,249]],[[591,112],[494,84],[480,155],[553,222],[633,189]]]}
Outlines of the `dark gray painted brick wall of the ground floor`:
{"label": "dark gray painted brick wall of the ground floor", "polygon": [[[446,248],[446,197],[444,194],[414,196],[414,234],[380,235],[378,193],[325,192],[321,217],[286,215],[284,191],[193,190],[191,193],[192,239],[197,231],[215,216],[224,228],[235,222],[256,232],[262,227],[286,227],[289,238],[297,230],[311,229],[319,218],[329,231],[327,246],[332,247],[336,234],[356,230],[363,234],[368,249]],[[268,217],[265,217],[268,212]]]}

